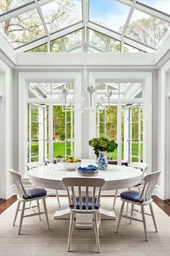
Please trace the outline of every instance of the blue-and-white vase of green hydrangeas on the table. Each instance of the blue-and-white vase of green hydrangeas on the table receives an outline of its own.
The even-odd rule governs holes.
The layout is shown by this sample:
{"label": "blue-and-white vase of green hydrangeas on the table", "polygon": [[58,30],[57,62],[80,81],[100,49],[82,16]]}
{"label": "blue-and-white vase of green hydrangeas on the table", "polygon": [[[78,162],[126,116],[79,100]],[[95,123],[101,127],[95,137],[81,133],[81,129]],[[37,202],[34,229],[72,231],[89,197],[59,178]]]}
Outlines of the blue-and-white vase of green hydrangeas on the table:
{"label": "blue-and-white vase of green hydrangeas on the table", "polygon": [[109,140],[106,137],[100,137],[89,140],[89,145],[94,148],[94,153],[98,157],[99,169],[107,169],[107,153],[115,151],[117,142],[115,140]]}

